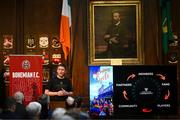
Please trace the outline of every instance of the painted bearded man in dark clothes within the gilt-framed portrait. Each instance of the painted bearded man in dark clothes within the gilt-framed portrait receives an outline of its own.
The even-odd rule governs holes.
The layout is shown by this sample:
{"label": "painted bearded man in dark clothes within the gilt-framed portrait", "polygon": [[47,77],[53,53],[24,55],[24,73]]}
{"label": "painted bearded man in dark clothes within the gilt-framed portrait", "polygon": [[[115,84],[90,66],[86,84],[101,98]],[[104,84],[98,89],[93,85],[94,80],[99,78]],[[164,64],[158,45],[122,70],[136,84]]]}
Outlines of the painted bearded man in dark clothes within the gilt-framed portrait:
{"label": "painted bearded man in dark clothes within the gilt-framed portrait", "polygon": [[123,58],[128,56],[129,40],[127,28],[121,22],[120,13],[114,11],[112,14],[112,24],[108,27],[104,40],[107,42],[108,47],[106,56],[108,58]]}

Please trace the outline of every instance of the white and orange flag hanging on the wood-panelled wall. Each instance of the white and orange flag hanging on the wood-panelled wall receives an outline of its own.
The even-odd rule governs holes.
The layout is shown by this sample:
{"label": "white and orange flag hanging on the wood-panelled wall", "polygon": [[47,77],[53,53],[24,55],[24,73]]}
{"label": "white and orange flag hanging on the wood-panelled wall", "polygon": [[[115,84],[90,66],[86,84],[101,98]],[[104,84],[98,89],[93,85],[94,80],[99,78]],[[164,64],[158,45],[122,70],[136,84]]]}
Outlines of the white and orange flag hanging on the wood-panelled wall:
{"label": "white and orange flag hanging on the wood-panelled wall", "polygon": [[71,7],[68,0],[63,0],[61,22],[60,22],[60,42],[64,52],[64,58],[67,60],[70,53],[70,28],[71,28]]}

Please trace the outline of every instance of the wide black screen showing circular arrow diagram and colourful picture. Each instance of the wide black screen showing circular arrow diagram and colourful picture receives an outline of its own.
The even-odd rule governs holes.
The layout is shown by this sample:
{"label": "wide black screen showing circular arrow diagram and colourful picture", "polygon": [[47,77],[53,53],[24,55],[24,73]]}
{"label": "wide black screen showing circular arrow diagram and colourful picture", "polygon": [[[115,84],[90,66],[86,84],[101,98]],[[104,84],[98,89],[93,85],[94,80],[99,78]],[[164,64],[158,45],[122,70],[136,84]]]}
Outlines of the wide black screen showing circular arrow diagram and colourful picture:
{"label": "wide black screen showing circular arrow diagram and colourful picture", "polygon": [[89,66],[89,82],[95,116],[177,114],[176,65]]}

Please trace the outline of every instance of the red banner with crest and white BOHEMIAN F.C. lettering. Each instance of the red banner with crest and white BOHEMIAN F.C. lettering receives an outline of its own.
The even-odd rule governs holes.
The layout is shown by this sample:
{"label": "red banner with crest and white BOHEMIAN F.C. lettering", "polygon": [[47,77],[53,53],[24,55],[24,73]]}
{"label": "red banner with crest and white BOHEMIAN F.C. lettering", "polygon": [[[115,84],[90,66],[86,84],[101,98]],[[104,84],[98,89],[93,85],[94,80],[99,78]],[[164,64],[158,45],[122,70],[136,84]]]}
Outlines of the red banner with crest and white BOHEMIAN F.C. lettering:
{"label": "red banner with crest and white BOHEMIAN F.C. lettering", "polygon": [[42,94],[42,57],[10,55],[10,95],[21,91],[24,103],[35,101]]}

